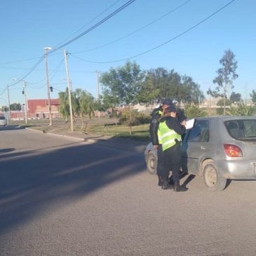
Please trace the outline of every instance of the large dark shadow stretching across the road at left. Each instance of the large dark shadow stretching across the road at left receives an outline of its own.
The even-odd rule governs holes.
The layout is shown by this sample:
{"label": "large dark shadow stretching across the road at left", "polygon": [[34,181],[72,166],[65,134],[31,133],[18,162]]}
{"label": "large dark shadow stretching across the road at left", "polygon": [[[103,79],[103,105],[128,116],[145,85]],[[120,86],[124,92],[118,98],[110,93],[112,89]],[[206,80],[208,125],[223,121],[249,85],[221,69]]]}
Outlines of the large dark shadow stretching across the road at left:
{"label": "large dark shadow stretching across the road at left", "polygon": [[58,202],[79,200],[146,168],[143,154],[99,142],[12,151],[0,165],[0,234]]}

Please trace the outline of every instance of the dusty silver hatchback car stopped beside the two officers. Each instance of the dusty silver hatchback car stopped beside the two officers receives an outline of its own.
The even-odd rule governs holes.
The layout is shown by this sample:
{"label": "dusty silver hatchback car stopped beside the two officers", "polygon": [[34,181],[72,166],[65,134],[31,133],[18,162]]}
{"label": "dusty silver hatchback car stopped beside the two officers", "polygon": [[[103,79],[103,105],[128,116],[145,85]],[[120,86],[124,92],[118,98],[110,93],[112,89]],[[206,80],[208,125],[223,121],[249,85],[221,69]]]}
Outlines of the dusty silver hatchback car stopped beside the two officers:
{"label": "dusty silver hatchback car stopped beside the two officers", "polygon": [[[156,173],[156,150],[144,152],[149,173]],[[210,116],[195,119],[182,140],[182,170],[203,177],[211,191],[228,180],[256,180],[256,117]]]}

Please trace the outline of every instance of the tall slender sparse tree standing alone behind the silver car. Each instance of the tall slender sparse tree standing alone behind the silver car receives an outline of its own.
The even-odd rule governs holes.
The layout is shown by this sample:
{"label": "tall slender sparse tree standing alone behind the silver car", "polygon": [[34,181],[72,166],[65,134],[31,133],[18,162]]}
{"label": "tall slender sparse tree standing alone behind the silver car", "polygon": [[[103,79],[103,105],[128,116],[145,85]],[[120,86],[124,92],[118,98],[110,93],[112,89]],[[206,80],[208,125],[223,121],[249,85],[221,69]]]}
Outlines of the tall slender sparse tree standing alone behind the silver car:
{"label": "tall slender sparse tree standing alone behind the silver car", "polygon": [[224,97],[224,112],[226,112],[226,98],[229,87],[232,89],[234,79],[238,78],[236,74],[237,61],[235,60],[236,55],[231,50],[225,50],[223,57],[220,59],[220,64],[223,66],[217,69],[217,76],[213,79],[213,83],[217,84],[215,91],[210,91],[210,95],[213,97]]}

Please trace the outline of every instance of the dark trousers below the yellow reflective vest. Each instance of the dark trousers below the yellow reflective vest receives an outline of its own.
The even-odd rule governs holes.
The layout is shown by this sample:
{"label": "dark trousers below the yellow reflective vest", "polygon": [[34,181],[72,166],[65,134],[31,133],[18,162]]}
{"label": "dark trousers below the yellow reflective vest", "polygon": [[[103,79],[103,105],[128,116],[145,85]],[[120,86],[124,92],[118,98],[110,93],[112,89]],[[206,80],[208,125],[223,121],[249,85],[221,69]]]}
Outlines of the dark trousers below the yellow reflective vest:
{"label": "dark trousers below the yellow reflective vest", "polygon": [[169,172],[172,170],[173,182],[180,180],[180,167],[182,154],[180,151],[180,143],[163,151],[162,145],[159,144],[157,149],[157,175],[163,180],[168,180]]}

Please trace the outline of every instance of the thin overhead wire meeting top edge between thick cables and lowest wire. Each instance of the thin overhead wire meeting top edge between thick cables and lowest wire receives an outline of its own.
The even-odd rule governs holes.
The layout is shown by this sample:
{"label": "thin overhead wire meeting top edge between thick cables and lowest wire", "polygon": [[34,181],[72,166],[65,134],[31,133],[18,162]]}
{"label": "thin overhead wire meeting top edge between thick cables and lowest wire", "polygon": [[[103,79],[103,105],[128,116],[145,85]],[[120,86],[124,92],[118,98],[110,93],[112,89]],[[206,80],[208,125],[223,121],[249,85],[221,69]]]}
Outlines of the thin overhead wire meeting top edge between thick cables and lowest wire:
{"label": "thin overhead wire meeting top edge between thick cables and lowest wire", "polygon": [[[114,40],[114,41],[110,41],[109,43],[102,44],[101,46],[96,46],[96,47],[94,47],[94,48],[90,48],[90,49],[88,49],[88,50],[83,50],[83,51],[76,52],[76,53],[86,53],[86,52],[88,52],[88,51],[97,50],[97,49],[103,48],[103,47],[105,47],[105,46],[109,46],[109,45],[112,44],[112,43],[116,43],[116,42],[118,42],[118,41],[121,41],[122,39],[125,39],[126,37],[131,36],[132,34],[135,34],[135,33],[137,33],[137,32],[140,32],[140,30],[142,30],[142,29],[144,29],[144,28],[146,28],[146,27],[149,27],[150,25],[152,25],[152,24],[154,24],[155,22],[161,20],[162,18],[166,17],[166,16],[169,15],[170,13],[173,13],[174,11],[177,11],[178,9],[182,8],[182,6],[188,4],[190,1],[191,1],[191,0],[188,0],[188,1],[184,2],[183,4],[180,4],[180,6],[177,6],[177,7],[175,7],[173,10],[168,11],[168,13],[162,15],[162,16],[159,17],[159,18],[156,18],[155,20],[152,20],[151,22],[147,23],[147,25],[144,25],[144,26],[140,27],[139,29],[136,29],[135,31],[130,32],[129,34],[126,34],[125,36],[121,36],[119,39],[116,39],[116,40]],[[74,54],[76,54],[76,53],[74,53]]]}

